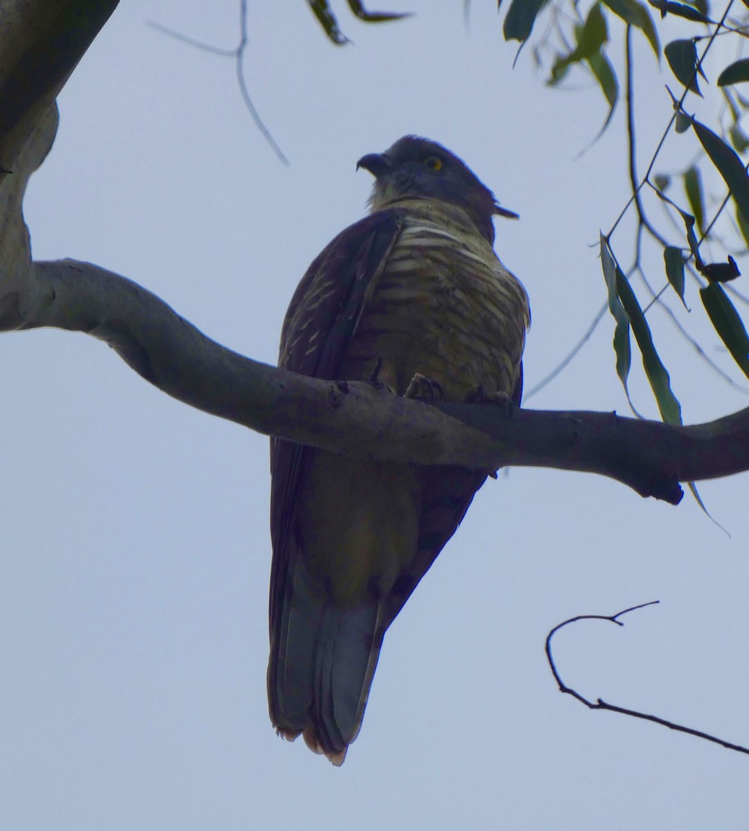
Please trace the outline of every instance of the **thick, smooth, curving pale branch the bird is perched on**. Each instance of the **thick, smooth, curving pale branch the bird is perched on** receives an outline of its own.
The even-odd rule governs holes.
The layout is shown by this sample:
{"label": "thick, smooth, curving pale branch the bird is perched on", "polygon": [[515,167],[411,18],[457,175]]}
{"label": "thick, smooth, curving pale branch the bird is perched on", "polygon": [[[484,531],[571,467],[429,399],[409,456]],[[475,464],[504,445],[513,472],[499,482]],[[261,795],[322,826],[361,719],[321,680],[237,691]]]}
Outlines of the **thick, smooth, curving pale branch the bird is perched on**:
{"label": "thick, smooth, curving pale branch the bird is perched on", "polygon": [[362,382],[320,381],[231,352],[158,297],[88,263],[0,275],[0,330],[57,327],[108,343],[170,396],[267,435],[363,459],[580,470],[676,504],[678,482],[749,470],[749,409],[679,427],[613,413],[428,406]]}

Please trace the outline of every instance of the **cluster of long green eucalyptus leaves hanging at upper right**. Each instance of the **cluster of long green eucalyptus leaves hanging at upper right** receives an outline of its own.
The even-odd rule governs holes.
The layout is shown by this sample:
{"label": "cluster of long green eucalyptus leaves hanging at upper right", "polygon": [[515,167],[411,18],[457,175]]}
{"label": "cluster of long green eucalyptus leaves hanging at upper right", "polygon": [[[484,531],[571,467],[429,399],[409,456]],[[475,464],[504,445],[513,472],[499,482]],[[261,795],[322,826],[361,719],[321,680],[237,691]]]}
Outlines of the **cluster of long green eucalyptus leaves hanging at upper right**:
{"label": "cluster of long green eucalyptus leaves hanging at upper right", "polygon": [[[671,388],[668,370],[658,354],[648,323],[648,311],[656,303],[667,307],[669,293],[672,293],[670,297],[678,298],[682,309],[692,313],[688,305],[691,287],[686,276],[696,285],[702,310],[728,355],[749,378],[749,336],[736,306],[737,302],[749,305],[749,300],[731,285],[740,277],[737,259],[741,260],[747,254],[749,246],[749,176],[747,163],[741,157],[749,149],[749,137],[742,130],[742,117],[749,101],[742,97],[738,88],[749,82],[749,58],[741,56],[749,39],[749,2],[743,0],[735,5],[736,18],[729,17],[732,7],[729,0],[723,3],[720,13],[713,12],[707,0],[648,0],[647,3],[642,0],[596,0],[586,7],[574,0],[511,0],[506,4],[505,40],[520,42],[521,50],[526,43],[532,43],[535,62],[548,71],[549,85],[559,85],[574,70],[587,72],[599,86],[608,106],[599,136],[611,124],[620,99],[627,108],[629,158],[626,164],[631,198],[609,232],[600,234],[600,258],[609,312],[614,321],[616,370],[628,400],[633,406],[628,391],[632,362],[630,334],[633,334],[658,409],[663,420],[671,423],[681,421],[681,407]],[[674,21],[679,24],[676,27],[679,32],[685,28],[688,32],[688,27],[692,27],[691,37],[674,38],[662,48],[661,36],[670,31],[668,24]],[[642,176],[638,175],[634,152],[637,130],[633,106],[633,37],[643,37],[658,61],[653,74],[668,72],[671,79],[665,79],[666,84],[673,85],[675,79],[677,89],[681,90],[675,94],[666,86],[673,108],[667,114],[663,137]],[[729,37],[736,42],[738,57],[722,67],[717,81],[711,85],[704,64],[717,37]],[[622,44],[624,72],[618,73],[610,52],[612,47]],[[665,61],[661,61],[662,55]],[[652,76],[649,80],[652,81]],[[688,103],[705,99],[701,84],[705,93],[708,90],[711,93],[710,101],[706,101],[712,106],[707,119],[712,120],[711,126],[697,120],[686,109]],[[656,172],[655,165],[664,161],[663,145],[672,134],[687,134],[686,138],[691,138],[694,160],[686,170],[677,173]],[[671,194],[670,190],[666,193],[675,179],[681,179],[682,197]],[[703,184],[705,181],[707,189]],[[662,210],[655,211],[653,204],[660,205]],[[727,210],[729,206],[732,206],[732,216]],[[614,253],[613,235],[622,227],[623,216],[630,212],[635,214],[637,230],[633,260],[624,269]],[[618,233],[620,235],[621,230]],[[650,238],[662,251],[663,271],[660,273],[664,272],[665,281],[659,291],[652,288],[652,282],[648,280],[646,272],[652,273],[653,266],[644,261],[643,236]],[[706,248],[720,248],[722,257],[716,262],[707,261],[703,253]],[[636,274],[642,278],[648,297],[638,297],[643,288],[635,290],[632,278]],[[673,312],[670,319],[677,321]],[[676,325],[689,337],[680,323]],[[692,346],[697,347],[697,352],[716,371],[731,380],[731,376],[714,364],[696,342],[692,342]],[[734,386],[737,385],[734,383]],[[743,388],[746,389],[746,384]]]}

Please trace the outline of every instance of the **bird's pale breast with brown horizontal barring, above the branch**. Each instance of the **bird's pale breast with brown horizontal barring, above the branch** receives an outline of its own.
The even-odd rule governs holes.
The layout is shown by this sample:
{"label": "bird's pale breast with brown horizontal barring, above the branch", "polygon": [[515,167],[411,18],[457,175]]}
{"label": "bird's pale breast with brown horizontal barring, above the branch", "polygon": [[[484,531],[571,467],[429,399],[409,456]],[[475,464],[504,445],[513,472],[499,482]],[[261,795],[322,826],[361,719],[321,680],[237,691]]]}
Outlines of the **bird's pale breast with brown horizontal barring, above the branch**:
{"label": "bird's pale breast with brown horizontal barring, above the branch", "polygon": [[372,286],[342,366],[381,378],[402,395],[416,372],[447,400],[483,386],[510,394],[528,325],[525,289],[470,224],[448,214],[409,216]]}

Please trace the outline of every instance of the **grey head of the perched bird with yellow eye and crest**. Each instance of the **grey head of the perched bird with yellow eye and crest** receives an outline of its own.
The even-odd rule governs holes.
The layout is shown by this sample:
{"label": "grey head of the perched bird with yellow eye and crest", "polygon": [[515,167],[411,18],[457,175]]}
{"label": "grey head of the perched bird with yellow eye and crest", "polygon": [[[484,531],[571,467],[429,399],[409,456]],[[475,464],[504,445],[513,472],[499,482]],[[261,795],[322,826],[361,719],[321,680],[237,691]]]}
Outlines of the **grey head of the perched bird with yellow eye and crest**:
{"label": "grey head of the perched bird with yellow eye and crest", "polygon": [[492,216],[518,218],[501,208],[471,169],[436,141],[404,135],[384,153],[362,156],[357,170],[360,167],[375,177],[369,200],[373,210],[392,199],[442,199],[464,209],[490,243],[494,243]]}

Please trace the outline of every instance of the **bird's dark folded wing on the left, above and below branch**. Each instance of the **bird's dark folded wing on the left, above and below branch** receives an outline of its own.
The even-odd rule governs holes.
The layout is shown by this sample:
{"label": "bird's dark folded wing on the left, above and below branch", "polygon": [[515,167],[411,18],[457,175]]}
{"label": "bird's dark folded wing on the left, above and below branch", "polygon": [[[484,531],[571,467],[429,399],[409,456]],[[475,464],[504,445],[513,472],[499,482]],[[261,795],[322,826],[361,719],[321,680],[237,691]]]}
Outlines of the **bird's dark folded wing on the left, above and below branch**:
{"label": "bird's dark folded wing on the left, above and below branch", "polygon": [[[338,377],[342,355],[400,234],[401,216],[397,209],[370,214],[338,234],[313,261],[283,322],[279,366],[316,378]],[[304,445],[271,439],[272,634],[281,627],[297,494],[312,453]]]}

